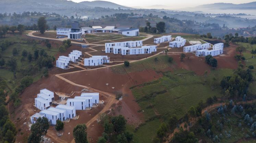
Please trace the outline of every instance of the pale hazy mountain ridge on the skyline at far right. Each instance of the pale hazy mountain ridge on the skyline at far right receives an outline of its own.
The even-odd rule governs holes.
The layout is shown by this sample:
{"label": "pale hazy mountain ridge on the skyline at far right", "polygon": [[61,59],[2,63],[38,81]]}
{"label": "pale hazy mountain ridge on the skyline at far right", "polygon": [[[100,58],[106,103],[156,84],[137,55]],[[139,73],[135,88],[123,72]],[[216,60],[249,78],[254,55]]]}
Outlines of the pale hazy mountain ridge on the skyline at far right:
{"label": "pale hazy mountain ridge on the skyline at far right", "polygon": [[233,3],[213,3],[196,6],[199,9],[256,9],[256,1],[250,3],[233,4]]}

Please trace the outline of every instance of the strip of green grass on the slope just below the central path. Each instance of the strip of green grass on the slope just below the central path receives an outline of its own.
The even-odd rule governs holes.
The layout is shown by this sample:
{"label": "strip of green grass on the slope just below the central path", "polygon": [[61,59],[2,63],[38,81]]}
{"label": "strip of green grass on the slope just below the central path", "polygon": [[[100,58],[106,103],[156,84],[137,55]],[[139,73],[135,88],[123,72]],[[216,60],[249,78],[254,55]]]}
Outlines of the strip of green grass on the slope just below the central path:
{"label": "strip of green grass on the slope just below the central path", "polygon": [[[155,62],[155,58],[158,58],[158,61]],[[111,67],[112,72],[116,74],[126,74],[132,72],[141,72],[145,69],[154,69],[156,71],[168,68],[173,63],[168,62],[168,56],[157,55],[146,60],[130,63],[129,67],[124,67],[123,65]]]}

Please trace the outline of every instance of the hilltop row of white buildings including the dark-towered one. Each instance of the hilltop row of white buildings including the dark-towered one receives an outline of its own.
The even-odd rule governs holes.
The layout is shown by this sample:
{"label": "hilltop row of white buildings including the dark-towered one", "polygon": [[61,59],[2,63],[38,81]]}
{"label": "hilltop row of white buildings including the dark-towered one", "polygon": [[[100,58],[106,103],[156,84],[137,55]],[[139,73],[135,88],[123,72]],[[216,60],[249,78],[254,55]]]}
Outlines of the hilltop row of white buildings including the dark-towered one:
{"label": "hilltop row of white buildings including the dark-towered one", "polygon": [[71,28],[57,28],[56,33],[57,35],[68,36],[69,39],[80,39],[85,33],[119,33],[126,36],[139,36],[139,29],[129,27],[115,28],[114,26],[106,26],[105,28],[101,26],[80,28],[79,23],[74,21],[71,23]]}

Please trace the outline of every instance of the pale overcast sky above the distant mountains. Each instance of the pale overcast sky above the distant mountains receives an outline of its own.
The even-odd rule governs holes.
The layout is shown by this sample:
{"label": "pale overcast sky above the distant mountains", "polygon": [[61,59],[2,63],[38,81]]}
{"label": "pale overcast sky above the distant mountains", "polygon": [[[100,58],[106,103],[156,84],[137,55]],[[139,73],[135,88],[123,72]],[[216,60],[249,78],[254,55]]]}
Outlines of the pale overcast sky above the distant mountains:
{"label": "pale overcast sky above the distant mountains", "polygon": [[[74,2],[81,2],[81,1],[93,1],[93,0],[72,0]],[[255,0],[105,0],[114,2],[124,6],[150,6],[150,5],[165,5],[170,6],[172,8],[182,8],[182,7],[193,7],[202,4],[209,4],[209,3],[248,3],[253,2]]]}

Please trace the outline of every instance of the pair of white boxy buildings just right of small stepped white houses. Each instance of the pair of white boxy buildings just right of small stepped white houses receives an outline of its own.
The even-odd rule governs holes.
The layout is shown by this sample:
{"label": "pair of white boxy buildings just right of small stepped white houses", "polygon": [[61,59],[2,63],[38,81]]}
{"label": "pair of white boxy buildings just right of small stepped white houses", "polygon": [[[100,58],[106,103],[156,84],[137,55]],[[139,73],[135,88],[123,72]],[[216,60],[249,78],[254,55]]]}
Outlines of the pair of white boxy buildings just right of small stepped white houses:
{"label": "pair of white boxy buildings just right of small stepped white houses", "polygon": [[84,66],[98,66],[103,63],[109,63],[109,57],[107,55],[93,55],[90,58],[84,59]]}

